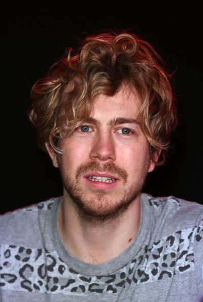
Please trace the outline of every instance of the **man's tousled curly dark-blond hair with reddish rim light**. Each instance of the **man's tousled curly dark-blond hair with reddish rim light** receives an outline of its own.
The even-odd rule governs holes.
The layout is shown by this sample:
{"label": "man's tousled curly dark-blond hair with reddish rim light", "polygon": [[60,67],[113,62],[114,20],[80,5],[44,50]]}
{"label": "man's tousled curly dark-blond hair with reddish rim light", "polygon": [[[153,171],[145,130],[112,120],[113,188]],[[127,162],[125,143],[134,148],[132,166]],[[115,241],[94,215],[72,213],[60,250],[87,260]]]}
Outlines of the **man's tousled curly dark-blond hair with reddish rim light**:
{"label": "man's tousled curly dark-blond hair with reddish rim light", "polygon": [[127,84],[140,97],[137,118],[150,152],[161,150],[156,164],[164,163],[177,112],[170,75],[154,48],[136,35],[111,32],[87,37],[76,54],[72,53],[68,49],[48,76],[32,87],[28,116],[38,131],[39,145],[45,150],[49,141],[62,154],[59,140],[85,122],[93,101],[100,94],[113,96]]}

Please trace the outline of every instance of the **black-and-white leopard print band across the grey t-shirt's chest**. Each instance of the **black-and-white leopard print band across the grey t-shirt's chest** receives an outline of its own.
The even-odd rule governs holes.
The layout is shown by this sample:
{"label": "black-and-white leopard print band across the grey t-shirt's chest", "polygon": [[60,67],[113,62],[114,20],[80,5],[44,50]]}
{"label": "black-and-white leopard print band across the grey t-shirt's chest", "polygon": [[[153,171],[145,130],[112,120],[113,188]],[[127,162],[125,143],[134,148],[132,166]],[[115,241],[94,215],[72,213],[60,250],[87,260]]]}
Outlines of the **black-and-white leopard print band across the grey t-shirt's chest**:
{"label": "black-and-white leopard print band across the grey t-shirt's chest", "polygon": [[[203,225],[203,223],[202,223]],[[1,246],[0,286],[40,293],[117,293],[132,282],[148,283],[172,278],[194,269],[194,240],[202,239],[203,226],[177,231],[145,246],[116,274],[84,276],[68,267],[55,251]],[[0,260],[1,260],[0,258]]]}

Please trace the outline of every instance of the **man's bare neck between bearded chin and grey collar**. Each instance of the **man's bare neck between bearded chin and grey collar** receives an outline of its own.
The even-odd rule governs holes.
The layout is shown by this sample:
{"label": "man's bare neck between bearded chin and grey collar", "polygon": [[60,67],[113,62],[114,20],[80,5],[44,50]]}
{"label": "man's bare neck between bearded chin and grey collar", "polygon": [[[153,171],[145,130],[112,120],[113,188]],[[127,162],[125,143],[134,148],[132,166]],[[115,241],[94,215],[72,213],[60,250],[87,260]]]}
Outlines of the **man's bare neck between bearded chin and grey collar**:
{"label": "man's bare neck between bearded chin and grey collar", "polygon": [[96,223],[82,219],[69,196],[59,211],[59,232],[67,250],[92,264],[121,254],[136,237],[140,226],[140,195],[119,217]]}

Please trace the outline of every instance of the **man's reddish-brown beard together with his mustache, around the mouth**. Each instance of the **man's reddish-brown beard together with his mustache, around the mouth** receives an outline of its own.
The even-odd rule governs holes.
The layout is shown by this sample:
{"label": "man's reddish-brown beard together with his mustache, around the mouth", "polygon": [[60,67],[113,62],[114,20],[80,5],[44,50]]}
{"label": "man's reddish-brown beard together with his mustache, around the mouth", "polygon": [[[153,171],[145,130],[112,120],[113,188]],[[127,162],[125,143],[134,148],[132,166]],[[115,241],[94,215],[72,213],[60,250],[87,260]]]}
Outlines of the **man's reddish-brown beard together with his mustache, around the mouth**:
{"label": "man's reddish-brown beard together with his mustache, around the mouth", "polygon": [[[93,190],[93,196],[87,199],[86,192],[80,185],[82,175],[89,172],[110,172],[118,175],[119,180],[125,185],[128,175],[124,169],[113,163],[100,165],[87,163],[81,165],[76,172],[76,180],[72,182],[67,173],[61,173],[63,187],[76,208],[79,216],[88,223],[103,223],[120,217],[129,205],[140,195],[145,183],[147,171],[142,179],[136,180],[129,188],[123,191],[122,196],[113,201],[111,193],[105,190]],[[62,172],[62,171],[61,171]]]}

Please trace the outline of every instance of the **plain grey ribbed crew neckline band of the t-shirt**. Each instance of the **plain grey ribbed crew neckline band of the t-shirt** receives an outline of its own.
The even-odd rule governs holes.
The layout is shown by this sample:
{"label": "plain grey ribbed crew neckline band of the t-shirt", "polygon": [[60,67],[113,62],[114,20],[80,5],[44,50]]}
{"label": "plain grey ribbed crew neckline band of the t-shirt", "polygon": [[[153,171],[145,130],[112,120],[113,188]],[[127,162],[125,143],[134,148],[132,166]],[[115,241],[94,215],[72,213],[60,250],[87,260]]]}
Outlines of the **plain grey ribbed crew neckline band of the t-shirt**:
{"label": "plain grey ribbed crew neckline band of the t-shirt", "polygon": [[77,271],[77,273],[86,276],[102,276],[113,274],[116,270],[125,266],[129,261],[133,259],[135,255],[142,249],[144,242],[146,242],[148,232],[150,228],[150,212],[148,207],[147,194],[142,193],[141,202],[141,223],[136,237],[133,239],[131,245],[127,247],[121,254],[115,258],[100,264],[91,264],[81,261],[80,259],[74,257],[66,249],[63,241],[61,239],[58,227],[58,214],[60,205],[63,199],[58,198],[54,202],[51,209],[51,219],[50,219],[50,230],[52,236],[53,247],[58,253],[61,260],[67,264],[70,268]]}

